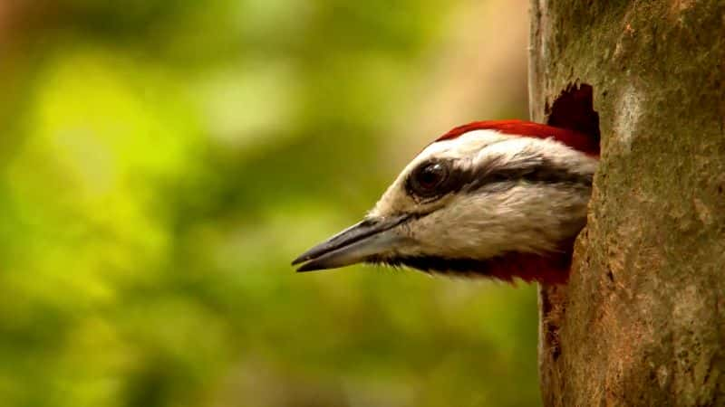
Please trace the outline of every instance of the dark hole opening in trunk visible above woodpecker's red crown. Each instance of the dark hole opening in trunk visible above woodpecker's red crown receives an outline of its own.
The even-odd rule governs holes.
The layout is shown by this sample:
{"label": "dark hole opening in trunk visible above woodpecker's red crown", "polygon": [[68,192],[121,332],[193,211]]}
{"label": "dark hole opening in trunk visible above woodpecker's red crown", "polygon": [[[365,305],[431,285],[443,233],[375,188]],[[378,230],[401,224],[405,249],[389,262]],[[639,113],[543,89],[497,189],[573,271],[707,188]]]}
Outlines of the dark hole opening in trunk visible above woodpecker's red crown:
{"label": "dark hole opening in trunk visible above woodpecker's red crown", "polygon": [[593,94],[594,90],[586,83],[569,84],[551,106],[546,102],[546,124],[584,133],[599,146],[599,114],[594,111]]}

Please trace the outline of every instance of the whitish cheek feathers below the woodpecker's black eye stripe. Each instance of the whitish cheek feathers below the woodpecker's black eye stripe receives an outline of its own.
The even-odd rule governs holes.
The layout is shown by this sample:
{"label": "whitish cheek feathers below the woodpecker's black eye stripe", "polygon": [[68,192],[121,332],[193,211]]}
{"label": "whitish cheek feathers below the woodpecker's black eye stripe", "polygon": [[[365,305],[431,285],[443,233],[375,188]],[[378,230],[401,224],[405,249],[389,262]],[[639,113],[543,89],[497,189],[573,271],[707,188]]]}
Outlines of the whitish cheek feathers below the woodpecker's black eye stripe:
{"label": "whitish cheek feathers below the woodpecker's black eye stripe", "polygon": [[517,185],[507,191],[467,194],[411,221],[408,248],[423,255],[488,259],[507,252],[542,254],[584,226],[590,190]]}

